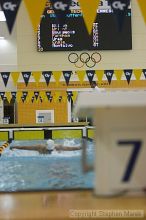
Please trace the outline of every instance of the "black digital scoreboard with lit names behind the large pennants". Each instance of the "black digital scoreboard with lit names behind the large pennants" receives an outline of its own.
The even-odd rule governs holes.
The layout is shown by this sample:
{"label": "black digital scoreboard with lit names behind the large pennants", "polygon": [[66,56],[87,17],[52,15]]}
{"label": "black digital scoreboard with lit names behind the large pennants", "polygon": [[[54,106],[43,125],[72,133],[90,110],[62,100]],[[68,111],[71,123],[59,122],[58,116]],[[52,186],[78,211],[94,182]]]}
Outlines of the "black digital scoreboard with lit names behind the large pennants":
{"label": "black digital scoreboard with lit names behind the large pennants", "polygon": [[132,49],[131,7],[123,28],[118,29],[115,15],[107,0],[97,9],[92,34],[89,35],[77,0],[72,0],[63,27],[58,24],[51,3],[46,3],[37,33],[37,49],[43,51],[130,50]]}

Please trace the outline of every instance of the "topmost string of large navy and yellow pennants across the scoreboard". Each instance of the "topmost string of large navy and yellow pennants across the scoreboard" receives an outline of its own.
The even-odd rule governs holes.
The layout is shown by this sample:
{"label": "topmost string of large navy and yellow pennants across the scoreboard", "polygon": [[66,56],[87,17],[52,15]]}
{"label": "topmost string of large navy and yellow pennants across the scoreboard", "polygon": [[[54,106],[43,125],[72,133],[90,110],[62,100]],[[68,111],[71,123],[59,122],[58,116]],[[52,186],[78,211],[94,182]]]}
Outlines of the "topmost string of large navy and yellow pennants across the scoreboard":
{"label": "topmost string of large navy and yellow pennants across the scoreboard", "polygon": [[[43,14],[43,11],[46,7],[47,0],[23,0],[26,6],[26,9],[28,11],[29,17],[31,19],[34,31],[37,31],[37,27],[41,20],[41,15]],[[96,11],[98,9],[99,0],[78,0],[82,13],[83,18],[88,30],[88,33],[91,34],[93,22],[96,17]],[[101,0],[102,1],[102,0]],[[111,7],[113,9],[113,13],[115,14],[115,17],[118,20],[119,24],[119,30],[121,29],[125,11],[128,7],[128,4],[130,4],[130,0],[108,0],[111,4]],[[142,12],[142,15],[144,17],[144,20],[146,22],[146,1],[145,0],[137,0],[140,10]],[[0,6],[5,14],[7,26],[9,29],[9,32],[12,32],[13,25],[17,16],[17,12],[19,10],[19,6],[21,4],[22,0],[0,0]],[[57,7],[57,15],[58,15],[58,9],[61,11],[61,14],[64,12],[64,10],[67,7],[67,11],[69,10],[68,7],[70,5],[70,0],[68,2],[64,0],[51,0],[54,2]],[[66,4],[67,3],[67,4]],[[56,12],[56,11],[55,11]],[[60,12],[59,12],[60,13]],[[59,21],[62,23],[62,18]]]}

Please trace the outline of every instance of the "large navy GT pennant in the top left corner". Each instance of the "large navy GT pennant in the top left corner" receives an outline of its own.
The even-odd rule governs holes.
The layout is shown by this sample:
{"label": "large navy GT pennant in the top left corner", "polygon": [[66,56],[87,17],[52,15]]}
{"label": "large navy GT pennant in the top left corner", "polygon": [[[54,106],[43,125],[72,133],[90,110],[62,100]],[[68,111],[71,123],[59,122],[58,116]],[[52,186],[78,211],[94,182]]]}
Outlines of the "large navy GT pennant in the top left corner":
{"label": "large navy GT pennant in the top left corner", "polygon": [[11,33],[21,0],[0,0],[1,8],[5,14],[8,30]]}

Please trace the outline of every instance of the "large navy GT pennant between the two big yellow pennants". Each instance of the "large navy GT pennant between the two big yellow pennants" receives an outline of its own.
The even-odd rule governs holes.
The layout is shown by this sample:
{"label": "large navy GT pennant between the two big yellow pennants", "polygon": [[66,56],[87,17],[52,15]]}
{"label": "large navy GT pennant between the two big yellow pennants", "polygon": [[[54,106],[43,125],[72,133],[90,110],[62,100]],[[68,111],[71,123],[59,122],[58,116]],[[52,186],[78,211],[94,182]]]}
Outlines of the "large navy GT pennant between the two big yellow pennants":
{"label": "large navy GT pennant between the two big yellow pennants", "polygon": [[50,2],[56,14],[58,23],[62,26],[66,22],[67,14],[70,13],[69,7],[72,0],[50,0]]}

